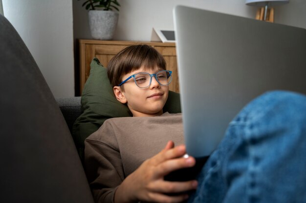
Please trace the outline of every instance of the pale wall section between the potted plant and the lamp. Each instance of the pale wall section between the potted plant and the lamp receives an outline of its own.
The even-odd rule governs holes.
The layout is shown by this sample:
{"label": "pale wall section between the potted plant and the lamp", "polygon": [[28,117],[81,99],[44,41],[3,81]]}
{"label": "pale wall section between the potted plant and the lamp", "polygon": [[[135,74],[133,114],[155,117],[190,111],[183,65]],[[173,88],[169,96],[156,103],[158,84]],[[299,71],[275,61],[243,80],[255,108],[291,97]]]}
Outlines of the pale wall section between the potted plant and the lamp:
{"label": "pale wall section between the potted plant and the lamp", "polygon": [[255,15],[244,0],[122,0],[115,39],[149,41],[152,27],[173,30],[173,8],[178,4],[245,17]]}

